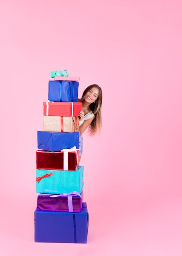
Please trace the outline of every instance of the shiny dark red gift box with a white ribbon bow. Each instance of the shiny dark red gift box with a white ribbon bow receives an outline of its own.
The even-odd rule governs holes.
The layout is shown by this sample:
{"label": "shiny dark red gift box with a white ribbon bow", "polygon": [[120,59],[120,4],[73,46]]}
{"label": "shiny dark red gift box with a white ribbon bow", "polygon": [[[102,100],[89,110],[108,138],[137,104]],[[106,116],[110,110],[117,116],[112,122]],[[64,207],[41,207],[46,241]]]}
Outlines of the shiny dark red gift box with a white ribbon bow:
{"label": "shiny dark red gift box with a white ribbon bow", "polygon": [[75,171],[78,167],[78,155],[76,147],[57,152],[37,150],[37,169]]}

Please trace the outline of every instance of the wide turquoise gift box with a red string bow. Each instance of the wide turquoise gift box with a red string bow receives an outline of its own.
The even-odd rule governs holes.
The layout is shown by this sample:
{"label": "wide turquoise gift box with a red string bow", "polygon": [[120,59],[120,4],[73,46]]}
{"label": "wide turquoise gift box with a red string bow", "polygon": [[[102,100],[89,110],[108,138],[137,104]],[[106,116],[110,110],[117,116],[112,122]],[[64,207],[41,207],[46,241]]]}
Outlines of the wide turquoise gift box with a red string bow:
{"label": "wide turquoise gift box with a red string bow", "polygon": [[45,194],[61,194],[83,190],[84,166],[76,171],[59,171],[36,169],[36,192]]}

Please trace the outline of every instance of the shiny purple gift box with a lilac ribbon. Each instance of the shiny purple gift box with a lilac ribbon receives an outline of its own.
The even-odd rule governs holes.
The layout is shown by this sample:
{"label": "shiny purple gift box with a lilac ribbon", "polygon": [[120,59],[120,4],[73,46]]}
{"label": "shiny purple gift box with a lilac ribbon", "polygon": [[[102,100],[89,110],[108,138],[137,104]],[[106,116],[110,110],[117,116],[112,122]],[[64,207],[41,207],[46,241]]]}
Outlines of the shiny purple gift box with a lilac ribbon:
{"label": "shiny purple gift box with a lilac ribbon", "polygon": [[[82,191],[83,192],[83,191]],[[37,196],[37,211],[67,211],[80,212],[83,193],[72,191],[61,195],[39,194]]]}

